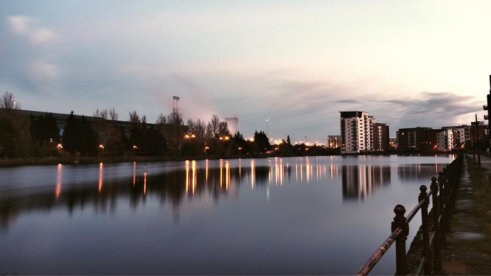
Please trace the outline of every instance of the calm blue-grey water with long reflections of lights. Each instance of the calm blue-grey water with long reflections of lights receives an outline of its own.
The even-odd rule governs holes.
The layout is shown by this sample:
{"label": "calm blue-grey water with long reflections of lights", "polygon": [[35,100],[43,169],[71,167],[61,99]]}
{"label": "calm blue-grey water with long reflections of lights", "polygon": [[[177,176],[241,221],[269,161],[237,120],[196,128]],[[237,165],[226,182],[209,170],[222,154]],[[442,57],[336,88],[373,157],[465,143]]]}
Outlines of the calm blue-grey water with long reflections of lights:
{"label": "calm blue-grey water with long reflections of lights", "polygon": [[[452,159],[0,168],[0,274],[353,274]],[[372,273],[394,271],[392,248]]]}

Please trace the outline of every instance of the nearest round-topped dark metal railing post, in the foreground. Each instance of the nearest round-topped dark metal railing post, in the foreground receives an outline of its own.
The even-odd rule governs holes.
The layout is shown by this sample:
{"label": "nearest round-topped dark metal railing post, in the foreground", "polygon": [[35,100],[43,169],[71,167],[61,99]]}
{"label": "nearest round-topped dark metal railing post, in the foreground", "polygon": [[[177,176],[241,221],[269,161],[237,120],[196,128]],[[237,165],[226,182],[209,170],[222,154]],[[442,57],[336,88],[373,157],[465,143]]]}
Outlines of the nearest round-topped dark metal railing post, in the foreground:
{"label": "nearest round-topped dark metal railing post, in the foreground", "polygon": [[407,263],[406,263],[406,239],[409,234],[409,224],[406,222],[404,213],[406,209],[404,206],[398,204],[394,208],[394,221],[391,224],[391,231],[394,232],[395,229],[400,228],[402,231],[397,236],[395,240],[395,266],[396,275],[406,275],[407,274]]}

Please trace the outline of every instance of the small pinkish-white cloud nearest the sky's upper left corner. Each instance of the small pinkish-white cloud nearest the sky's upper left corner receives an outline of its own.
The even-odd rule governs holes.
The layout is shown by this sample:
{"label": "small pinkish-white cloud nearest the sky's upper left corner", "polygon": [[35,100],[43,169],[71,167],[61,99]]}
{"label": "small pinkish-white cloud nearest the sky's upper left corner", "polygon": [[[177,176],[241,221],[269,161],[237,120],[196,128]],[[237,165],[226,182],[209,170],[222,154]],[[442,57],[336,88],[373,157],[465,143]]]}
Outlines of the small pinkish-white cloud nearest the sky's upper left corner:
{"label": "small pinkish-white cloud nearest the sky's upper left corner", "polygon": [[14,34],[23,36],[32,45],[41,45],[53,41],[56,34],[46,27],[40,27],[39,20],[29,16],[9,16],[10,29]]}

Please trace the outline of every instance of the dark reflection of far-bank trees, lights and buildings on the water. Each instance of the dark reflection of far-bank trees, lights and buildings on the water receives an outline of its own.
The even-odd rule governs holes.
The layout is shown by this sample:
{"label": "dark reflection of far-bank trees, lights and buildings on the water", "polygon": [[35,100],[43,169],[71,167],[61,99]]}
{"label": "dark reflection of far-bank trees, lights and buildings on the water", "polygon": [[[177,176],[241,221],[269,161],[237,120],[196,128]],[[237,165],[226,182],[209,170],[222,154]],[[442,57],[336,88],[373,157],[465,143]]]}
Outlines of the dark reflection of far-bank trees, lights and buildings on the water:
{"label": "dark reflection of far-bank trees, lights and buildings on the water", "polygon": [[[332,160],[333,158],[329,162],[329,159],[326,161],[319,157],[300,157],[285,160],[270,158],[268,161],[234,159],[153,164],[133,162],[126,168],[123,164],[100,163],[97,167],[60,164],[56,167],[56,176],[51,178],[54,191],[53,186],[31,185],[29,188],[22,188],[23,183],[20,188],[13,184],[0,186],[0,223],[5,228],[22,212],[49,212],[59,206],[65,206],[70,214],[75,208],[84,209],[88,204],[97,212],[114,210],[117,200],[121,198],[128,199],[130,207],[136,209],[145,203],[147,197],[160,201],[162,205],[169,202],[174,209],[175,218],[178,219],[179,208],[184,199],[193,200],[208,194],[218,201],[228,193],[238,193],[241,185],[254,190],[265,186],[332,182],[331,179],[339,178],[340,170],[343,199],[362,201],[378,187],[390,185],[393,169],[402,181],[420,178],[427,180],[434,174],[433,170],[422,170],[422,166],[428,166],[424,164],[395,165],[396,167],[339,165]],[[437,169],[438,166],[443,165],[437,164]],[[119,171],[120,168],[123,171]],[[68,172],[69,174],[65,174]],[[88,176],[85,177],[84,174]],[[91,175],[98,176],[97,180],[85,180],[91,179]]]}

